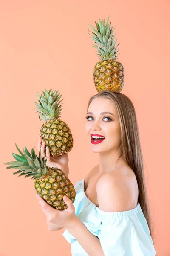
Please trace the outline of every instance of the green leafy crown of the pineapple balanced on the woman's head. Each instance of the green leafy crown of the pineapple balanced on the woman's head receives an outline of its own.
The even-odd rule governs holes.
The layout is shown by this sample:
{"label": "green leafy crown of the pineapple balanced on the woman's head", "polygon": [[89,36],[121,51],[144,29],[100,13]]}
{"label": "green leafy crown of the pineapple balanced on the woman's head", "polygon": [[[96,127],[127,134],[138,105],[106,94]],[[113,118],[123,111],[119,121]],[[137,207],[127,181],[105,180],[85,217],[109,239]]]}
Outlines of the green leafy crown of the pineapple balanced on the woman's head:
{"label": "green leafy crown of the pineapple balanced on the woman's head", "polygon": [[[109,17],[110,17],[110,15],[109,15]],[[108,24],[109,17],[108,17],[106,24],[105,24],[105,20],[101,21],[99,19],[99,24],[95,21],[97,29],[95,29],[93,26],[89,25],[89,26],[91,26],[92,29],[94,29],[94,32],[96,32],[96,33],[88,30],[92,33],[91,38],[95,41],[96,44],[98,44],[98,46],[96,44],[93,44],[93,47],[98,49],[98,51],[96,51],[96,52],[98,52],[97,55],[99,55],[102,60],[109,60],[109,59],[116,60],[116,58],[118,56],[117,52],[119,51],[119,47],[118,47],[119,44],[115,48],[115,44],[117,41],[117,38],[114,41],[116,33],[113,36],[115,27],[113,29],[111,27],[111,23],[110,23],[110,25]]]}

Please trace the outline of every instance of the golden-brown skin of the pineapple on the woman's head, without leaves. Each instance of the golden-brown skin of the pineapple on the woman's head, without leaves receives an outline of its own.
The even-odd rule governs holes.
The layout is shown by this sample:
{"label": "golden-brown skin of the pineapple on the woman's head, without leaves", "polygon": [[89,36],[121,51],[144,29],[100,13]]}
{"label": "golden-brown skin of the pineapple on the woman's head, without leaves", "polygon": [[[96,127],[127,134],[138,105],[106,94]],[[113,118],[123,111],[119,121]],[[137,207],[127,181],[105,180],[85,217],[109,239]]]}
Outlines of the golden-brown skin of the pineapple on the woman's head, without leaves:
{"label": "golden-brown skin of the pineapple on the woman's head, without leaves", "polygon": [[124,86],[124,67],[116,60],[102,60],[96,63],[93,71],[96,90],[120,93]]}

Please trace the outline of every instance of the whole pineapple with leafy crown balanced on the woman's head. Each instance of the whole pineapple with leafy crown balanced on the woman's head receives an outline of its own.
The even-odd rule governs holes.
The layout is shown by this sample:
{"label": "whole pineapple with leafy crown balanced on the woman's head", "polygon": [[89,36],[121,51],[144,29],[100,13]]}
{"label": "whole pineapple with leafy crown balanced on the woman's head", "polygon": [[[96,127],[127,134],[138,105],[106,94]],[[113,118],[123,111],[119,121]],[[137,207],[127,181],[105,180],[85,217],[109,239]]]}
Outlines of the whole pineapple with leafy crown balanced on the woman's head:
{"label": "whole pineapple with leafy crown balanced on the woman's head", "polygon": [[98,45],[94,44],[93,47],[98,50],[96,51],[98,52],[97,55],[101,58],[101,61],[97,62],[94,67],[94,84],[98,92],[108,90],[120,93],[124,85],[124,67],[116,60],[119,44],[115,47],[117,39],[114,41],[114,38],[116,33],[113,36],[115,28],[112,30],[111,23],[108,24],[109,17],[106,24],[105,20],[101,21],[99,19],[99,24],[95,21],[97,29],[90,25],[95,32],[91,32],[91,38]]}

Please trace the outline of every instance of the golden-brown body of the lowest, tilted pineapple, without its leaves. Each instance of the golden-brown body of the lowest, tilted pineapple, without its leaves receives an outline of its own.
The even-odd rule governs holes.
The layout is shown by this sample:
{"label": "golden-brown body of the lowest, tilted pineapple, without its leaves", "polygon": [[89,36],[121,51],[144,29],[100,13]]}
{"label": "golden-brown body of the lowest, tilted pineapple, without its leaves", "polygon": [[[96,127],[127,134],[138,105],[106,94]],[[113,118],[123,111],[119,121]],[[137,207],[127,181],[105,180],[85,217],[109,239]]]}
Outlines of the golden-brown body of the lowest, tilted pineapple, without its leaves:
{"label": "golden-brown body of the lowest, tilted pineapple, without its leaves", "polygon": [[48,175],[35,180],[34,188],[54,209],[67,209],[63,196],[66,195],[73,203],[76,197],[74,185],[62,170],[49,167],[48,170]]}

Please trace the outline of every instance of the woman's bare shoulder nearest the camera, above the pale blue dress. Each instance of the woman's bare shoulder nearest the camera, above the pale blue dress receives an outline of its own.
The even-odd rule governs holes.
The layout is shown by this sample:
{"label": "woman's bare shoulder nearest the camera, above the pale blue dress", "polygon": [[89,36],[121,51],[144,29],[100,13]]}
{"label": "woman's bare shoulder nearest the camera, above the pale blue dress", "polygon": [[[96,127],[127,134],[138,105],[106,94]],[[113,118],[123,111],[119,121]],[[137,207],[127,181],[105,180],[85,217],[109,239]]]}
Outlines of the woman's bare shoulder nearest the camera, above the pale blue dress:
{"label": "woman's bare shoulder nearest the camera, above the pale blue dress", "polygon": [[96,184],[99,208],[105,212],[123,212],[136,207],[138,185],[135,173],[124,166],[102,175]]}

